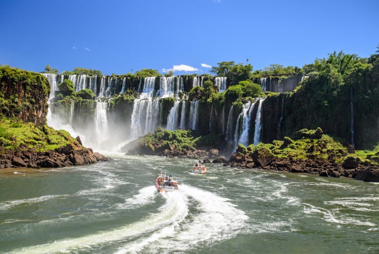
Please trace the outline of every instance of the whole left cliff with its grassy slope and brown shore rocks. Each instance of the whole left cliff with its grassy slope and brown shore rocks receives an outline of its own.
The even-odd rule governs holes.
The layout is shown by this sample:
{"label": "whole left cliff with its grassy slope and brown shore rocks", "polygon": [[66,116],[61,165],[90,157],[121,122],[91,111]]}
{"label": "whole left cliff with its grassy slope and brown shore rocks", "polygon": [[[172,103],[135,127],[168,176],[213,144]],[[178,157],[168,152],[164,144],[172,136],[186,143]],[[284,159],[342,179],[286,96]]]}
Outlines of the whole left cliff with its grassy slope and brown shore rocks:
{"label": "whole left cliff with its grassy slope and brown shore rocks", "polygon": [[0,168],[55,168],[107,160],[83,147],[79,137],[46,125],[49,93],[49,82],[41,74],[0,67]]}

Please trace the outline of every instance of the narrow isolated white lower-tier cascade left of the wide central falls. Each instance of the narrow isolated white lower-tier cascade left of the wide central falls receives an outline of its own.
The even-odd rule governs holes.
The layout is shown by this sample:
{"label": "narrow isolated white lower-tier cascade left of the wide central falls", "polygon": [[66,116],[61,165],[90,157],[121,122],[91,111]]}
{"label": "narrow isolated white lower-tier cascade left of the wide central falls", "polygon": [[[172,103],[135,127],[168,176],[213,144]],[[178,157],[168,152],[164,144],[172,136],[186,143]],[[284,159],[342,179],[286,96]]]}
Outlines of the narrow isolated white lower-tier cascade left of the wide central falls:
{"label": "narrow isolated white lower-tier cascade left of the wide central falls", "polygon": [[108,140],[108,120],[107,120],[107,102],[97,102],[95,112],[96,139],[97,144]]}

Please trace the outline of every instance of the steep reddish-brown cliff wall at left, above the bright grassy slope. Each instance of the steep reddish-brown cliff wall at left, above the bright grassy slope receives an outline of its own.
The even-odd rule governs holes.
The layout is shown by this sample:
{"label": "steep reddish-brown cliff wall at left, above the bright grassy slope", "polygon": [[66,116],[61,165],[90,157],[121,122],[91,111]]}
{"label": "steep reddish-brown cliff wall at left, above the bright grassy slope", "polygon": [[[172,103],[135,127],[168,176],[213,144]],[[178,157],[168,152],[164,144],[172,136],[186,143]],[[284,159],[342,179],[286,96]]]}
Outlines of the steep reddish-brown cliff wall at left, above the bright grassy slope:
{"label": "steep reddish-brown cliff wall at left, above the bright grassy slope", "polygon": [[46,123],[50,85],[39,73],[0,68],[0,108],[6,117],[17,117],[36,126]]}

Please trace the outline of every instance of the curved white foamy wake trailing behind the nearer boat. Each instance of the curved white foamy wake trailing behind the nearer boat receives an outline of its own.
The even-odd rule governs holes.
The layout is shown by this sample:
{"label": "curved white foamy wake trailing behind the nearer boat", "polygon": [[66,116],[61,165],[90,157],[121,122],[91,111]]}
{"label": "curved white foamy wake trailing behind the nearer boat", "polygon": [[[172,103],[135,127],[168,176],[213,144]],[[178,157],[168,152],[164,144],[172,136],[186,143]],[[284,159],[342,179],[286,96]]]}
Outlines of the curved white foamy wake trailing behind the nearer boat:
{"label": "curved white foamy wake trailing behind the nearer boat", "polygon": [[[104,247],[116,253],[174,252],[213,245],[236,236],[248,216],[229,200],[205,190],[181,184],[177,192],[157,193],[154,186],[142,188],[126,199],[124,208],[133,209],[152,203],[156,212],[135,223],[105,232],[46,244],[27,246],[15,252],[100,251]],[[136,202],[139,201],[139,202]],[[137,204],[138,203],[138,204]]]}

